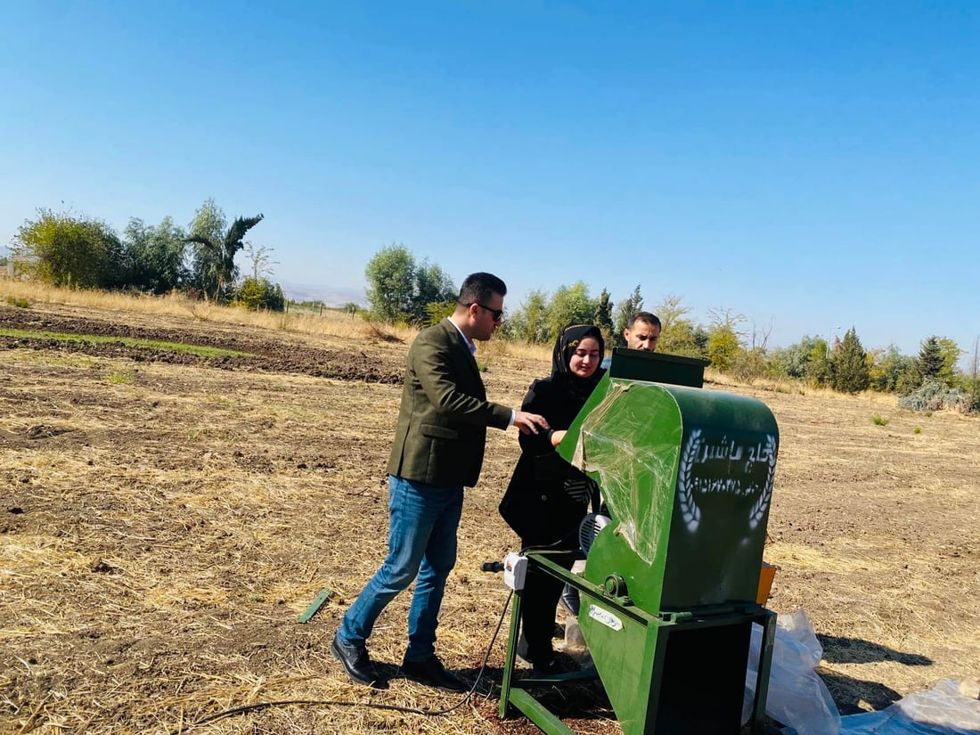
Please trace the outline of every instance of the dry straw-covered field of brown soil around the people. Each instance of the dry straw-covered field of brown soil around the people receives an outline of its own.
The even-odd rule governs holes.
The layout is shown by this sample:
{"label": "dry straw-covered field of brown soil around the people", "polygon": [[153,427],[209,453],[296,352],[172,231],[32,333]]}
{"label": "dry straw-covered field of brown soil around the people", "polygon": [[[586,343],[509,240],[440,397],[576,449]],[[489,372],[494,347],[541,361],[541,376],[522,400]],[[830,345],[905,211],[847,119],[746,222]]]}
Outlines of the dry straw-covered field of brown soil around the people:
{"label": "dry straw-covered field of brown soil around the people", "polygon": [[[506,630],[477,696],[449,714],[321,704],[459,701],[400,678],[386,692],[355,687],[328,652],[384,555],[384,467],[411,333],[61,292],[16,308],[15,287],[0,281],[0,328],[248,356],[0,336],[0,732],[537,731],[496,714]],[[547,351],[495,342],[479,359],[491,398],[510,405],[549,365]],[[980,420],[880,396],[707,389],[753,395],[779,421],[770,607],[807,611],[840,709],[980,673]],[[492,431],[467,490],[439,652],[470,678],[507,598],[479,564],[517,544],[496,511],[517,454],[513,429]],[[329,601],[298,623],[323,589]],[[407,607],[403,595],[371,639],[391,673]],[[281,701],[307,704],[192,726]],[[574,726],[617,732],[609,714],[580,712]]]}

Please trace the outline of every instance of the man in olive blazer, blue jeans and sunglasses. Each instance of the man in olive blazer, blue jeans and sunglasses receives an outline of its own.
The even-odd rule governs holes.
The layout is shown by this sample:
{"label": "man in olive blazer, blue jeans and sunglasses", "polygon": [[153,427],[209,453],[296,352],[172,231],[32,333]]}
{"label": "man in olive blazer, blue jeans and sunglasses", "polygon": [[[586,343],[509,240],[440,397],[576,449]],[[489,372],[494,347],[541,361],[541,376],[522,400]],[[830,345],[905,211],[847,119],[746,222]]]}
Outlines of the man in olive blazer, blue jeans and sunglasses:
{"label": "man in olive blazer, blue jeans and sunglasses", "polygon": [[403,673],[449,691],[466,685],[435,655],[446,578],[456,564],[463,489],[476,484],[487,426],[547,430],[544,417],[486,400],[473,340],[490,339],[507,286],[490,273],[466,277],[452,317],[423,329],[409,350],[402,405],[388,460],[388,555],[344,614],[330,645],[352,680],[387,683],[368,656],[374,621],[416,579]]}

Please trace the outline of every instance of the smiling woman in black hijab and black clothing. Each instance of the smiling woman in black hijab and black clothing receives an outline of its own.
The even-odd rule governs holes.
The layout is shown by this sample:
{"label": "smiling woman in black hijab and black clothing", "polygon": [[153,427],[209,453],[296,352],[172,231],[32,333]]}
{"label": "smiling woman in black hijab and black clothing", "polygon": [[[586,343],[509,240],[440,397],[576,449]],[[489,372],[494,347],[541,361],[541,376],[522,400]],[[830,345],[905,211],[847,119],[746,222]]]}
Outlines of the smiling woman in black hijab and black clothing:
{"label": "smiling woman in black hijab and black clothing", "polygon": [[[501,515],[524,548],[576,549],[579,522],[590,500],[598,504],[595,484],[555,448],[605,374],[599,365],[605,352],[598,326],[566,324],[555,342],[552,374],[531,383],[524,396],[521,411],[540,414],[551,426],[548,432],[520,434],[520,459],[500,504]],[[562,587],[550,574],[531,574],[525,580],[520,619],[535,673],[555,670],[552,634]]]}

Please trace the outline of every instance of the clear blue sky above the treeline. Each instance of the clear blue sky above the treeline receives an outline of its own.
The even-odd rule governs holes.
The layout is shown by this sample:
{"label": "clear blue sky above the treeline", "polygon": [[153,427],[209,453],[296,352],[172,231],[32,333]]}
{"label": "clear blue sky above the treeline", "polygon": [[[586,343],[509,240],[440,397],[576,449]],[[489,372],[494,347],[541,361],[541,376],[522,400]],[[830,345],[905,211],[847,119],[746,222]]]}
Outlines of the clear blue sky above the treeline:
{"label": "clear blue sky above the treeline", "polygon": [[[0,243],[186,224],[274,280],[401,243],[508,306],[585,281],[917,352],[980,335],[980,4],[4,4]],[[244,259],[243,259],[244,261]],[[240,265],[245,266],[244,262]],[[287,293],[288,293],[287,288]]]}

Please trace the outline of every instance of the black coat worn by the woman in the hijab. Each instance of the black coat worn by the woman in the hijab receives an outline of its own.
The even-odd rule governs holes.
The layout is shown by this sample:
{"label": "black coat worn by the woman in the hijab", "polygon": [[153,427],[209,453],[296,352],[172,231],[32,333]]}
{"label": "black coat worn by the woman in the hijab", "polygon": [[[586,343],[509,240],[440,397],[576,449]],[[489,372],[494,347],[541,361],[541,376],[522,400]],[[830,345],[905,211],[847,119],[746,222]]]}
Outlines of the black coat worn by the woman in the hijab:
{"label": "black coat worn by the woman in the hijab", "polygon": [[[589,389],[605,372],[600,368]],[[535,380],[521,410],[548,419],[552,430],[567,429],[588,400],[588,391],[566,374]],[[524,546],[577,548],[578,525],[588,513],[589,501],[578,501],[565,490],[566,480],[586,480],[551,445],[550,432],[520,435],[521,455],[500,504],[504,516]],[[591,483],[590,481],[590,484]]]}

